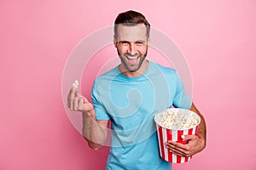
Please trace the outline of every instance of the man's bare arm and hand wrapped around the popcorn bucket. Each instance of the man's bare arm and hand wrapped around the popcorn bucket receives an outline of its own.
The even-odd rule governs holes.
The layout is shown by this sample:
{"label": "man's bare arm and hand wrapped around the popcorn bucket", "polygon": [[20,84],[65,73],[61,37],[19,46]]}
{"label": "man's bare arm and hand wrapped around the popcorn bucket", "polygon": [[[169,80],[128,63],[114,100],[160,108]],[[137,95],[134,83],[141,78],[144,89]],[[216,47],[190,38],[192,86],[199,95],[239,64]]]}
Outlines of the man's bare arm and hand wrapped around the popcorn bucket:
{"label": "man's bare arm and hand wrapped around the popcorn bucket", "polygon": [[183,140],[188,140],[188,144],[180,144],[173,141],[167,141],[166,147],[177,156],[189,157],[193,156],[201,150],[205,149],[207,144],[207,126],[204,117],[192,103],[190,111],[195,111],[201,117],[201,123],[198,127],[196,135],[183,135]]}

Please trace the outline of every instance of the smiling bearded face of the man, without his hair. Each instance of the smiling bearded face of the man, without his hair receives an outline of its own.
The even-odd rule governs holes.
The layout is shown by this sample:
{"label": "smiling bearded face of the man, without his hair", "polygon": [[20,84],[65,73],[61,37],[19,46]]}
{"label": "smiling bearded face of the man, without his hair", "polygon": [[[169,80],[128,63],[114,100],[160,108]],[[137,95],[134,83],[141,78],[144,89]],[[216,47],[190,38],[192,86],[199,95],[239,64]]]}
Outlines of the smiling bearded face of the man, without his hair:
{"label": "smiling bearded face of the man, without his hair", "polygon": [[137,26],[119,25],[117,37],[114,37],[121,66],[127,71],[138,71],[148,51],[147,28],[144,24]]}

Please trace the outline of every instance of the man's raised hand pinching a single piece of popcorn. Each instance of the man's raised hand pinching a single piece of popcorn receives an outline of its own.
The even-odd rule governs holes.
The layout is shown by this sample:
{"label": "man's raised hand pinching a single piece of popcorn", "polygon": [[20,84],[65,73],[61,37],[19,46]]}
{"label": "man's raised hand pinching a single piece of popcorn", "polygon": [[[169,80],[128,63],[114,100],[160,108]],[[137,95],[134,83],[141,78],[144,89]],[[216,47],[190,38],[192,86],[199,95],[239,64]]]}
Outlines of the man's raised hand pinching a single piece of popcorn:
{"label": "man's raised hand pinching a single piece of popcorn", "polygon": [[67,107],[71,111],[87,113],[88,116],[95,117],[93,105],[79,92],[79,88],[71,88],[67,95]]}

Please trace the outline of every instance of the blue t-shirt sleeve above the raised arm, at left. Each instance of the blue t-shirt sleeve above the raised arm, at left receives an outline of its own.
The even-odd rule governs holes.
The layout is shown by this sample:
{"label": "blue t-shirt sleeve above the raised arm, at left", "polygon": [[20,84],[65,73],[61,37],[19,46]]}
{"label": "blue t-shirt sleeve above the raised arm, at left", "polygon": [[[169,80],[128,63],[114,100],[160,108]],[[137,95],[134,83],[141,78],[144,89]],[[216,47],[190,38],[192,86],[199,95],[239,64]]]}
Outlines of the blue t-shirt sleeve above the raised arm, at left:
{"label": "blue t-shirt sleeve above the raised arm, at left", "polygon": [[101,120],[101,121],[109,120],[110,117],[108,115],[108,112],[104,108],[104,105],[102,105],[101,96],[100,96],[99,88],[97,87],[96,81],[93,84],[90,96],[92,99],[92,105],[94,106],[96,120]]}

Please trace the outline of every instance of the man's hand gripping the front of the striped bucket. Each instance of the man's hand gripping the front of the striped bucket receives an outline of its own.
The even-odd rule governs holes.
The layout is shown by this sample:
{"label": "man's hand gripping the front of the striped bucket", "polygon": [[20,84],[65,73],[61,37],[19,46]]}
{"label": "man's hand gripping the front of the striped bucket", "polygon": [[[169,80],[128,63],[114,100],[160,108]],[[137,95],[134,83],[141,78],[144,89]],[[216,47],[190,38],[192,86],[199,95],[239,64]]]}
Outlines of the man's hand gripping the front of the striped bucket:
{"label": "man's hand gripping the front of the striped bucket", "polygon": [[188,140],[188,144],[180,144],[173,141],[166,142],[166,148],[177,156],[189,157],[203,150],[206,146],[204,139],[200,139],[198,136],[183,135],[183,140]]}

